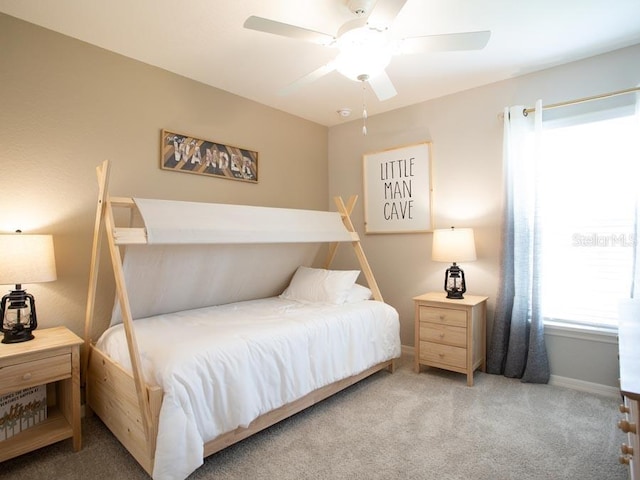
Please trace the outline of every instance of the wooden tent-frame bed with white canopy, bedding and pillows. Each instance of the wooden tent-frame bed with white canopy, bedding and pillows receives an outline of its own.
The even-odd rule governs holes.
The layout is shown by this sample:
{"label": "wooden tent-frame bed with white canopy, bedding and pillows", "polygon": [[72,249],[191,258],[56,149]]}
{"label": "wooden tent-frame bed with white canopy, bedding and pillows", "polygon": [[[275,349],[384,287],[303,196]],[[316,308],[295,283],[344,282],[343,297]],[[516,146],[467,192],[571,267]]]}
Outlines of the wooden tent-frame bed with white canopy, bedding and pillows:
{"label": "wooden tent-frame bed with white canopy, bedding and pillows", "polygon": [[[393,371],[398,314],[350,220],[356,197],[336,198],[337,212],[111,197],[109,170],[97,167],[86,405],[154,479],[185,478],[205,457]],[[104,240],[116,302],[96,331]],[[329,270],[341,243],[360,270]]]}

